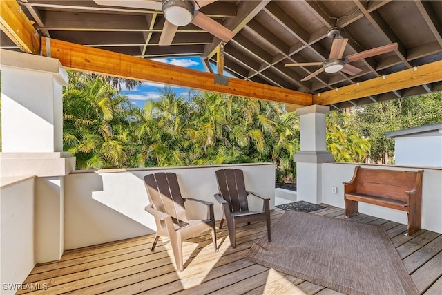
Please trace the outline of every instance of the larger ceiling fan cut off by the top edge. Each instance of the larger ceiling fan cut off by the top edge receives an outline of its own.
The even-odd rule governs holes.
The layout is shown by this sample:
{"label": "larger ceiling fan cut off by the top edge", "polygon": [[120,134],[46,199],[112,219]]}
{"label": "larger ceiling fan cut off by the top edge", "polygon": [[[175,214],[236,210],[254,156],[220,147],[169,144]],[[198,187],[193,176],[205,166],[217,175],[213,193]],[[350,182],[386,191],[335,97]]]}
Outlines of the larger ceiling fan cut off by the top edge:
{"label": "larger ceiling fan cut off by the top edge", "polygon": [[195,26],[211,33],[211,35],[218,37],[224,42],[233,38],[233,33],[228,28],[222,26],[198,11],[203,6],[209,5],[217,0],[94,0],[98,5],[105,6],[120,6],[131,8],[143,8],[162,11],[164,18],[163,30],[160,36],[159,45],[172,44],[173,37],[180,26],[186,26],[193,23]]}

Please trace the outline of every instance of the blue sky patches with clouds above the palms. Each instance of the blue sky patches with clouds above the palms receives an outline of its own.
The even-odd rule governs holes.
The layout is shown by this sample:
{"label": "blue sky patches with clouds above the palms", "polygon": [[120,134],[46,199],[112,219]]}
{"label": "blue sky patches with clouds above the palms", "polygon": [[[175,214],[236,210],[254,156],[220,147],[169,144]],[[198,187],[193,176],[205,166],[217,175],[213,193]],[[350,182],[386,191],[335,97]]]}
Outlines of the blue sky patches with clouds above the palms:
{"label": "blue sky patches with clouds above the palms", "polygon": [[[160,58],[152,60],[164,62],[166,64],[173,64],[175,66],[182,66],[184,68],[192,68],[193,70],[202,70],[202,71],[206,70],[202,65],[202,61],[199,56]],[[189,96],[188,88],[181,88],[175,86],[172,86],[172,88],[173,91],[175,91],[175,93],[177,94],[177,96],[180,95],[184,95],[185,97]],[[142,86],[139,86],[135,90],[128,91],[127,89],[123,89],[122,94],[126,95],[133,104],[142,108],[147,100],[160,98],[161,95],[160,91],[162,91],[163,89],[164,89],[163,84],[144,82]]]}

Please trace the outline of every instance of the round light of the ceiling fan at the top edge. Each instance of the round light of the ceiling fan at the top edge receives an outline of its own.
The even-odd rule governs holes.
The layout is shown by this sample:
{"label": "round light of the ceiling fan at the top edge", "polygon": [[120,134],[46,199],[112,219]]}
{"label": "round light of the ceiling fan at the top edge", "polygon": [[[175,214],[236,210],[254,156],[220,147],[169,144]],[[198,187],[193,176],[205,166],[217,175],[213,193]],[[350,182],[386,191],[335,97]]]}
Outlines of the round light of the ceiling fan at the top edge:
{"label": "round light of the ceiling fan at the top edge", "polygon": [[164,17],[175,26],[186,26],[193,19],[193,6],[184,0],[166,0],[162,5]]}

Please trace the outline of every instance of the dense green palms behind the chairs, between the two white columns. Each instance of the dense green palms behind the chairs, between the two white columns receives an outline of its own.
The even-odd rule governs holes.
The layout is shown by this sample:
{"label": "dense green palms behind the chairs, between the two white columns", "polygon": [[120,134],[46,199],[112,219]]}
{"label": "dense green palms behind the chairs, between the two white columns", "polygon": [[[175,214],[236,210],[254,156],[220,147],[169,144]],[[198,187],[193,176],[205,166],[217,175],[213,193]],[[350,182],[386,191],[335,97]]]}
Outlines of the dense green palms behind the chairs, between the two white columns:
{"label": "dense green palms behind the chairs, between the two white columns", "polygon": [[131,108],[102,77],[69,72],[64,89],[64,149],[77,169],[273,162],[293,181],[299,124],[281,104],[164,88]]}

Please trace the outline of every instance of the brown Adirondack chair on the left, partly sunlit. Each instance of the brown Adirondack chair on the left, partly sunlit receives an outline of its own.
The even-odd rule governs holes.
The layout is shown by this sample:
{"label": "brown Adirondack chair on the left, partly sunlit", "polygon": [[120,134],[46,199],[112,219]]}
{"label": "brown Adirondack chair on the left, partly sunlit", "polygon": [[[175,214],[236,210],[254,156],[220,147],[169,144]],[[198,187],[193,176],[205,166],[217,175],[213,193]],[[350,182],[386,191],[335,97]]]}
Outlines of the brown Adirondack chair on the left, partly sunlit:
{"label": "brown Adirondack chair on the left, partly sunlit", "polygon": [[[182,259],[182,242],[184,240],[211,230],[213,246],[215,251],[218,251],[212,202],[182,198],[175,173],[149,174],[144,176],[144,182],[150,202],[145,210],[154,216],[157,225],[157,233],[151,247],[152,251],[155,249],[160,236],[169,237],[179,272],[184,269]],[[189,220],[184,207],[186,201],[205,204],[207,206],[207,218],[205,220]]]}

